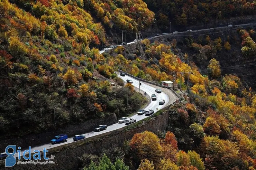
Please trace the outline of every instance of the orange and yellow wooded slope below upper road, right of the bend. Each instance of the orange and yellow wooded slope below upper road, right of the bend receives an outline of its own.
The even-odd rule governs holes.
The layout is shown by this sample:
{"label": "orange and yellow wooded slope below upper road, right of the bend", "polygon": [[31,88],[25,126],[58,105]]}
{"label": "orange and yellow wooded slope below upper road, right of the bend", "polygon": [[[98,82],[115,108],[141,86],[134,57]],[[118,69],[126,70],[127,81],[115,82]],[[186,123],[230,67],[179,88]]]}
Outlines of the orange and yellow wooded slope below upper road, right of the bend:
{"label": "orange and yellow wooded slope below upper road, right of the bend", "polygon": [[[241,36],[242,56],[254,58],[255,53],[251,52],[255,48],[255,43],[250,37],[254,37],[254,31],[250,30],[250,35],[243,29],[237,31]],[[220,63],[214,58],[219,55],[217,51],[222,48],[230,50],[229,41],[223,43],[220,38],[211,40],[207,36],[208,45],[194,43],[191,37],[187,38],[186,42],[189,48],[198,50],[193,59],[186,53],[181,54],[176,39],[173,39],[170,45],[157,41],[150,44],[149,40],[144,39],[141,45],[135,47],[137,51],[127,53],[127,49],[120,47],[109,53],[117,57],[124,55],[131,60],[121,64],[120,69],[143,79],[158,83],[174,81],[174,73],[177,73],[178,87],[180,88],[181,83],[181,88],[186,90],[189,76],[188,94],[184,95],[186,101],[170,107],[167,126],[167,130],[176,137],[177,147],[183,151],[177,151],[174,142],[166,146],[166,143],[161,140],[159,142],[156,136],[146,135],[147,132],[144,132],[135,135],[130,141],[130,152],[123,159],[125,162],[132,162],[132,165],[135,164],[135,167],[130,165],[131,169],[256,168],[256,94],[249,86],[245,88],[235,74],[221,77]],[[235,42],[232,42],[232,45],[235,45]],[[179,52],[179,57],[173,51],[177,54]],[[201,74],[198,67],[189,62],[189,59],[205,62],[205,58],[209,59],[207,72]],[[158,135],[163,138],[163,135]],[[165,140],[166,138],[165,136]],[[152,144],[153,141],[156,143]],[[155,147],[152,148],[152,145]],[[193,150],[196,153],[191,157]],[[195,157],[197,163],[193,160]]]}

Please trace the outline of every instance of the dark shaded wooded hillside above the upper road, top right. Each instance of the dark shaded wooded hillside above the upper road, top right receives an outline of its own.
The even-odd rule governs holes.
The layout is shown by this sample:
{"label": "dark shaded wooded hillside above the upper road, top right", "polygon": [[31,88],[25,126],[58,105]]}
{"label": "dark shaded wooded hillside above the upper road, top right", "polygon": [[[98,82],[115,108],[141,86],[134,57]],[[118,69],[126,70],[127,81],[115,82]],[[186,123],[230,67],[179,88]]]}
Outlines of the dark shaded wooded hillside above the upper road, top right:
{"label": "dark shaded wooded hillside above the upper road, top right", "polygon": [[[256,1],[202,1],[202,0],[145,0],[148,8],[155,12],[158,27],[191,27],[204,25],[216,20],[223,21],[231,17],[255,15]],[[234,20],[234,22],[236,22]],[[231,23],[232,24],[232,23]]]}

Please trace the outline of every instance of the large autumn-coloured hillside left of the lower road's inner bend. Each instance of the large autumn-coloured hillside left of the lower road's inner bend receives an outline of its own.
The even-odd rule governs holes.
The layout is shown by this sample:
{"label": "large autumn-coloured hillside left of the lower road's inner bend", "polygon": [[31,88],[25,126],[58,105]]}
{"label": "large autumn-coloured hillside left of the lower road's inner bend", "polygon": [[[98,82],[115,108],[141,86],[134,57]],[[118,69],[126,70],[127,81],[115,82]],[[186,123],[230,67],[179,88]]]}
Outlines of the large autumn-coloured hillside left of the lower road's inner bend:
{"label": "large autumn-coloured hillside left of the lower road's inner bend", "polygon": [[[1,136],[40,133],[109,113],[127,114],[127,97],[122,95],[126,89],[116,78],[116,66],[107,65],[99,50],[90,48],[99,43],[98,35],[104,36],[104,28],[76,2],[70,3],[19,3],[32,15],[0,1]],[[97,70],[108,79],[93,78]],[[121,86],[110,86],[110,78]],[[146,102],[131,87],[128,96],[131,112]]]}

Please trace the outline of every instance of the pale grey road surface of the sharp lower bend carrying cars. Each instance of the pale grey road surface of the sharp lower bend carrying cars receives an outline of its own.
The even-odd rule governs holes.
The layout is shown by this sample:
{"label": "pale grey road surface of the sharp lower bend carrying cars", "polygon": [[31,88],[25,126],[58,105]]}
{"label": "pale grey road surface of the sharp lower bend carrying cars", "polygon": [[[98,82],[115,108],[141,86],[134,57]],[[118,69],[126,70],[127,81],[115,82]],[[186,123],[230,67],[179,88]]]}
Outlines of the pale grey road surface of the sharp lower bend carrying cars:
{"label": "pale grey road surface of the sharp lower bend carrying cars", "polygon": [[[133,81],[133,84],[132,84],[132,85],[134,85],[135,87],[139,88],[139,81],[138,81],[137,79],[132,78],[132,77],[127,76],[127,75],[124,76],[124,77],[122,77],[122,76],[120,76],[120,75],[118,75],[118,76],[119,76],[120,78],[122,78],[125,82],[126,82],[126,79],[131,79],[131,80]],[[156,111],[157,111],[156,108],[158,108],[158,110],[160,110],[161,108],[165,107],[166,104],[167,104],[168,101],[169,101],[169,97],[168,97],[167,94],[165,94],[165,93],[163,93],[163,92],[162,92],[162,93],[156,93],[156,92],[155,92],[155,89],[156,89],[155,87],[152,87],[152,86],[150,86],[150,85],[147,85],[147,84],[145,84],[144,82],[141,82],[140,89],[141,89],[142,91],[146,92],[147,95],[150,96],[150,98],[151,98],[151,95],[152,95],[152,94],[156,94],[156,96],[157,96],[157,100],[156,100],[156,101],[150,101],[149,105],[145,108],[145,110],[146,110],[146,109],[152,109],[152,110],[154,110],[154,111],[156,112]],[[124,92],[124,95],[126,95],[126,92]],[[165,100],[165,104],[164,104],[164,105],[159,105],[159,104],[158,104],[159,99],[164,99],[164,100]],[[128,101],[128,104],[129,104],[129,101]],[[131,116],[131,118],[136,119],[136,121],[143,120],[143,119],[145,119],[146,117],[148,117],[148,116],[145,116],[145,114],[143,114],[143,115],[137,115],[137,114],[136,114],[136,115],[134,115],[134,116]],[[102,134],[102,133],[110,132],[110,131],[113,131],[113,130],[116,130],[116,129],[120,129],[120,128],[124,127],[124,126],[126,126],[124,123],[115,123],[115,124],[112,124],[112,125],[108,126],[107,130],[103,130],[103,131],[100,131],[100,132],[89,132],[89,133],[85,133],[85,134],[83,134],[83,135],[85,135],[86,138],[90,138],[90,137],[96,136],[96,135],[98,135],[98,134]],[[95,128],[96,128],[96,127],[95,127]],[[56,135],[57,135],[57,134],[56,134]],[[52,137],[54,138],[54,136],[52,136]],[[32,147],[31,150],[32,150],[32,151],[33,151],[33,150],[42,151],[44,148],[50,149],[50,148],[54,148],[54,147],[57,147],[57,146],[60,146],[60,145],[65,145],[65,144],[67,144],[67,143],[72,143],[72,142],[74,142],[74,141],[73,141],[73,136],[68,136],[68,137],[69,137],[69,138],[67,139],[66,142],[57,143],[57,144],[50,144],[50,143],[48,143],[48,144],[38,145],[38,146]],[[49,142],[50,142],[50,141],[49,141]],[[24,150],[26,150],[26,149],[27,149],[27,148],[22,148],[22,149],[21,149],[21,150],[22,150],[21,153],[23,153]],[[18,153],[15,154],[15,157],[18,157]]]}

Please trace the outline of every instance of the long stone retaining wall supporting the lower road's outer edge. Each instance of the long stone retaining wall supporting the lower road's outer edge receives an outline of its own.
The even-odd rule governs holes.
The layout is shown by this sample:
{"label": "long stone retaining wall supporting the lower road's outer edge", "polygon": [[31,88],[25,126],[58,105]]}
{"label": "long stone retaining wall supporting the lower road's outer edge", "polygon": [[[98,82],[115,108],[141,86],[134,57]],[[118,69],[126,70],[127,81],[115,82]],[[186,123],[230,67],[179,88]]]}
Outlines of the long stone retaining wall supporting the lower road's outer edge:
{"label": "long stone retaining wall supporting the lower road's outer edge", "polygon": [[[168,106],[164,109],[168,109]],[[16,164],[13,167],[4,168],[4,160],[0,161],[0,169],[7,170],[74,170],[77,169],[79,158],[84,153],[100,153],[102,149],[109,149],[121,146],[125,140],[129,140],[136,133],[143,131],[151,131],[154,133],[162,132],[166,129],[168,123],[168,111],[154,117],[149,121],[145,121],[132,129],[119,129],[115,133],[105,133],[107,136],[95,136],[97,139],[86,138],[85,141],[77,141],[68,145],[63,145],[49,149],[49,155],[55,155],[53,161],[55,164]],[[129,126],[127,126],[129,128]]]}

